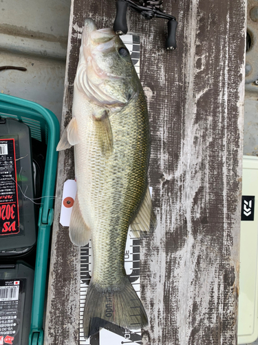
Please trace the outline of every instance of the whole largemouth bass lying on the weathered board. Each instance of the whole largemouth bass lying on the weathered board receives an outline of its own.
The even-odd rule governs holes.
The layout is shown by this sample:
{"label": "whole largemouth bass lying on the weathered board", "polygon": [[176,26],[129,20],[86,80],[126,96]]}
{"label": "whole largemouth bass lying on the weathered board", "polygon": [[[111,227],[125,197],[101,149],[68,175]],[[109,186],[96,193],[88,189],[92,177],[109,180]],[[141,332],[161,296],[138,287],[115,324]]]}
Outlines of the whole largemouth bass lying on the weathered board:
{"label": "whole largemouth bass lying on the weathered board", "polygon": [[125,273],[127,232],[155,223],[147,182],[150,133],[147,103],[129,51],[112,29],[83,28],[74,80],[72,120],[57,150],[74,146],[78,192],[69,237],[92,239],[94,269],[87,292],[85,338],[105,322],[136,330],[148,324]]}

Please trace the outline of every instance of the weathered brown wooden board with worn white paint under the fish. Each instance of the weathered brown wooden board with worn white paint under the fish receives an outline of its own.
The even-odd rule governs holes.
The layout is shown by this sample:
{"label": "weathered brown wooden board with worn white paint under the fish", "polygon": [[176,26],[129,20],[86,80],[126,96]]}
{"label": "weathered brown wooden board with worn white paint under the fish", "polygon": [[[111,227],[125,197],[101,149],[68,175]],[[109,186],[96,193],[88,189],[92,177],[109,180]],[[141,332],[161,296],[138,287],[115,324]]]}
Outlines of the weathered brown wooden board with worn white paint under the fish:
{"label": "weathered brown wooden board with worn white paint under the fish", "polygon": [[[63,125],[85,17],[113,25],[115,1],[72,1]],[[149,181],[158,228],[141,240],[142,302],[153,345],[237,344],[244,102],[244,0],[164,1],[178,48],[164,49],[166,21],[129,12],[141,37],[140,73],[151,122]],[[74,177],[59,156],[56,195]],[[78,344],[78,249],[58,223],[52,239],[45,344]]]}

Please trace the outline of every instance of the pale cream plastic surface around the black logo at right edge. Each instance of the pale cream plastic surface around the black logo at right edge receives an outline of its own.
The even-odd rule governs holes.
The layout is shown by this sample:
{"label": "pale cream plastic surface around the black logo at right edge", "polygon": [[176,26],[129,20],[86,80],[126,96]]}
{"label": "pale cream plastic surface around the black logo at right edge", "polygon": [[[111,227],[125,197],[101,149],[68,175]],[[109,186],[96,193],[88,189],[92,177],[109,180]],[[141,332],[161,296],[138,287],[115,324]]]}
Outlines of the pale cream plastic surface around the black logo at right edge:
{"label": "pale cream plastic surface around the black logo at right edge", "polygon": [[242,195],[255,196],[254,221],[241,221],[238,344],[258,337],[258,157],[244,156]]}

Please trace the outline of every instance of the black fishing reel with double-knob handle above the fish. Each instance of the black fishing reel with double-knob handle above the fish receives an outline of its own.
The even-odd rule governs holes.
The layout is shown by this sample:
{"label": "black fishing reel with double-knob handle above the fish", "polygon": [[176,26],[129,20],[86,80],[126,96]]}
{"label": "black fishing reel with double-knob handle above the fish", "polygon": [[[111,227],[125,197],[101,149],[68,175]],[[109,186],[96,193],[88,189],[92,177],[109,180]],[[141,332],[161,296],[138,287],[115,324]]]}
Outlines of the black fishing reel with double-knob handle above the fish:
{"label": "black fishing reel with double-knob handle above the fish", "polygon": [[166,49],[174,50],[177,47],[175,40],[175,32],[178,22],[171,14],[166,14],[162,8],[162,0],[140,0],[140,5],[132,0],[117,0],[116,1],[116,19],[114,21],[114,32],[116,34],[126,34],[127,28],[127,7],[135,12],[138,12],[145,19],[152,19],[153,17],[167,19],[168,36],[166,38]]}

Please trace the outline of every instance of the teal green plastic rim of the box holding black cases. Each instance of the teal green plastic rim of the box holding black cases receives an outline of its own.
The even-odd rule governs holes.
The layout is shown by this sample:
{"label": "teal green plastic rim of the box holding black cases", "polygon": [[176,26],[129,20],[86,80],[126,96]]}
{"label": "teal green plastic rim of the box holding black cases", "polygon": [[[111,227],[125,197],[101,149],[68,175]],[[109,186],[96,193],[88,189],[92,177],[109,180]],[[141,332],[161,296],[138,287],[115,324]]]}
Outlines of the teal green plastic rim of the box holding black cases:
{"label": "teal green plastic rim of the box holding black cases", "polygon": [[22,121],[30,127],[31,136],[47,144],[41,207],[39,210],[36,262],[32,298],[32,319],[29,345],[43,345],[43,313],[47,280],[47,258],[50,228],[54,219],[54,187],[59,141],[59,122],[53,112],[37,103],[0,93],[0,116]]}

